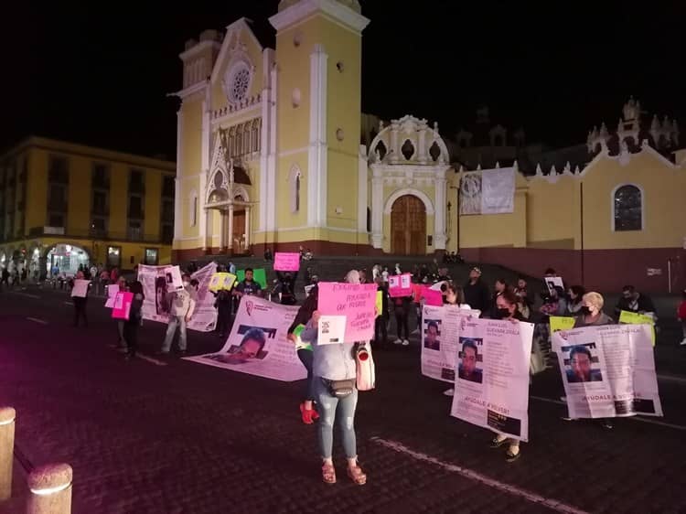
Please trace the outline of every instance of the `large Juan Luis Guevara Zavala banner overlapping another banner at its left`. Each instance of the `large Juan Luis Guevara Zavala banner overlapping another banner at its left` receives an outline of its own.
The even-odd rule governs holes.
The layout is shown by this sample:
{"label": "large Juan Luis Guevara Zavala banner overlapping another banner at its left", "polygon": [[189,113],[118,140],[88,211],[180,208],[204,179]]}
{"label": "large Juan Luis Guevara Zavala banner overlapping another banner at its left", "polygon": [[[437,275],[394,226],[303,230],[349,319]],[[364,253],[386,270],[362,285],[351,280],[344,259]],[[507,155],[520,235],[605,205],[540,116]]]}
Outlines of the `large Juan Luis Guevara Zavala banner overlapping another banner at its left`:
{"label": "large Juan Luis Guevara Zavala banner overlapping another banner at its left", "polygon": [[462,317],[457,335],[451,415],[528,441],[533,325]]}

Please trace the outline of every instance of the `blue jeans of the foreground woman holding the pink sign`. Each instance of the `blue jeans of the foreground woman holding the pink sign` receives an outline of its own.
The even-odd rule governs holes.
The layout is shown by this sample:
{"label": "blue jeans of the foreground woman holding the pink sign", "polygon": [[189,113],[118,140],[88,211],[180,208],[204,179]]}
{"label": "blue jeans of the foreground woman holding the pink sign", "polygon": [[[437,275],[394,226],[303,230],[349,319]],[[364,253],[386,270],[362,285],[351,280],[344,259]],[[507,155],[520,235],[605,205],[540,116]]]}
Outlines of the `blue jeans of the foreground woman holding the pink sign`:
{"label": "blue jeans of the foreground woman holding the pink sign", "polygon": [[313,380],[315,400],[319,404],[319,423],[317,433],[319,439],[319,453],[322,458],[330,459],[334,446],[334,422],[338,414],[338,426],[343,438],[343,451],[348,458],[358,456],[357,441],[355,439],[355,408],[358,406],[358,390],[345,398],[332,396],[327,384],[321,377]]}

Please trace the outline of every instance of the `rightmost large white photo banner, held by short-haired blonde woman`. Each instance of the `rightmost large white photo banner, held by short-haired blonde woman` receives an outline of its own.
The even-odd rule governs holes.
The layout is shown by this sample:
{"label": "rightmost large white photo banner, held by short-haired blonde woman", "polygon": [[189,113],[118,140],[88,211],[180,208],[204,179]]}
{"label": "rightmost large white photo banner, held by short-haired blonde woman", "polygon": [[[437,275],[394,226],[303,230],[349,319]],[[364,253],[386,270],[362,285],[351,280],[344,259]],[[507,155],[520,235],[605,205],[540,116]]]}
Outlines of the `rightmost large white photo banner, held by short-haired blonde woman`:
{"label": "rightmost large white photo banner, held by short-haired blonde woman", "polygon": [[649,325],[604,325],[552,335],[571,418],[661,416]]}

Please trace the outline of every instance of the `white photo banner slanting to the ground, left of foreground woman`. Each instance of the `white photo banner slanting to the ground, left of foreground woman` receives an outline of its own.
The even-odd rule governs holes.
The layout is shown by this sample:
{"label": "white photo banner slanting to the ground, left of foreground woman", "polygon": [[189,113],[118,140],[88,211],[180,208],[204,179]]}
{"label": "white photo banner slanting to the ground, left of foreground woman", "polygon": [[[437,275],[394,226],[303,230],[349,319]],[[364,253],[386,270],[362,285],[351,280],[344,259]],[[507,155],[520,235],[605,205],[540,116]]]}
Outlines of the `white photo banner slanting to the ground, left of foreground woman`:
{"label": "white photo banner slanting to the ground, left of foreground woman", "polygon": [[267,379],[305,379],[307,371],[297,358],[295,345],[286,339],[298,308],[244,296],[224,347],[186,359]]}

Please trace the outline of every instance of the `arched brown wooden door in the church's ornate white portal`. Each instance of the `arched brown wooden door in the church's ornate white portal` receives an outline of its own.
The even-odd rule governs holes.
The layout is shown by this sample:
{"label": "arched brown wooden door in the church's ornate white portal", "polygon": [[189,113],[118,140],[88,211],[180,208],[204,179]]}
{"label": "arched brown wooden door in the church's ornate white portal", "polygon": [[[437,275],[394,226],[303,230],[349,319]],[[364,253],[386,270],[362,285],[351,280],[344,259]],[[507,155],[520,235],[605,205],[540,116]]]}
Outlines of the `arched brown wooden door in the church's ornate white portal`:
{"label": "arched brown wooden door in the church's ornate white portal", "polygon": [[391,208],[391,252],[400,255],[426,254],[426,209],[423,201],[405,195]]}

